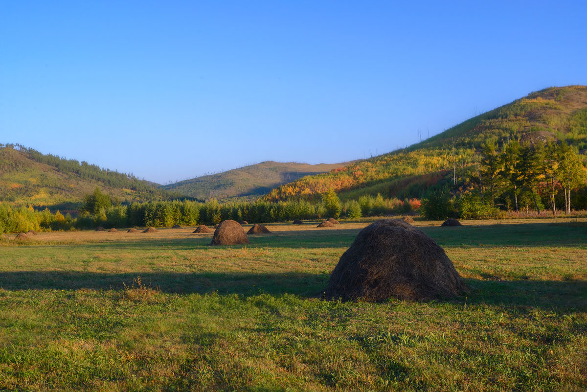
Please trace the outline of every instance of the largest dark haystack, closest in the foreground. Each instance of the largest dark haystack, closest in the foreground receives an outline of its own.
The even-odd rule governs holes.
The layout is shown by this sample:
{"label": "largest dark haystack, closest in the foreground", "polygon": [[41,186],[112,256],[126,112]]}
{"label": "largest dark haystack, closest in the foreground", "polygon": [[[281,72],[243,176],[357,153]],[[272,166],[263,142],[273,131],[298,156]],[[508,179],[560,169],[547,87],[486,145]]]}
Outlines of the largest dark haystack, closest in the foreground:
{"label": "largest dark haystack, closest in the foreground", "polygon": [[399,219],[383,219],[362,229],[340,257],[325,297],[426,300],[465,290],[453,263],[433,239]]}

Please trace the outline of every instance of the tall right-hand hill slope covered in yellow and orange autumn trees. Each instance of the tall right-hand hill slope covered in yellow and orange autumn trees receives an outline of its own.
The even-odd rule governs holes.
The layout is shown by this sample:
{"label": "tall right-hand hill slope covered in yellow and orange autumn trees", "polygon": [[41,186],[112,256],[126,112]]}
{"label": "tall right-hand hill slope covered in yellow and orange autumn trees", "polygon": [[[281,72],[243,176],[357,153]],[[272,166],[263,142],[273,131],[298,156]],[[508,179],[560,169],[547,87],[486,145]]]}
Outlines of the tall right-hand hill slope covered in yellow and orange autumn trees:
{"label": "tall right-hand hill slope covered in yellow and orange autumn trees", "polygon": [[508,138],[558,138],[585,150],[587,87],[551,87],[531,93],[408,148],[281,185],[265,199],[312,197],[329,188],[343,200],[377,193],[385,197],[421,197],[427,187],[452,176],[453,140],[457,180],[462,180],[458,175],[477,159],[475,154],[485,141],[502,143]]}

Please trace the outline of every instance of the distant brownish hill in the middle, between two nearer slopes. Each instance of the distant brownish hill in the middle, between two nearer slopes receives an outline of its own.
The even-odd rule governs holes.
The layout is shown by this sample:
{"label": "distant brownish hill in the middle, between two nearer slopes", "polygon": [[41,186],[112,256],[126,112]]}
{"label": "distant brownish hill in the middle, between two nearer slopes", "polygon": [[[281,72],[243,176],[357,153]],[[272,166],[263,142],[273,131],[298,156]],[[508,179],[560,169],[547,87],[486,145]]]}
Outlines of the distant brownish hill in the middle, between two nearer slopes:
{"label": "distant brownish hill in the middle, between two nearer slopes", "polygon": [[305,175],[326,173],[348,164],[350,162],[310,165],[265,161],[218,174],[203,175],[191,180],[163,185],[161,188],[200,199],[214,197],[218,200],[230,200],[231,198],[251,200],[266,194],[281,184],[297,180]]}

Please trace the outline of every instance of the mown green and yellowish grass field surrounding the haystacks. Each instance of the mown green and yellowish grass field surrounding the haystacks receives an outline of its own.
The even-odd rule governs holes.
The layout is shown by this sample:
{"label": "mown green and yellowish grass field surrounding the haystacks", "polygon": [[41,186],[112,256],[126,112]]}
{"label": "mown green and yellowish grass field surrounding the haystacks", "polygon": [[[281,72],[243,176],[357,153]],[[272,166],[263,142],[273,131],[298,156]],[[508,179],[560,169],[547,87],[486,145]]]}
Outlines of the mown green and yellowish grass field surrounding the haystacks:
{"label": "mown green and yellowish grass field surrounding the haystacks", "polygon": [[0,390],[587,389],[585,219],[417,222],[467,298],[321,300],[368,223],[2,241]]}

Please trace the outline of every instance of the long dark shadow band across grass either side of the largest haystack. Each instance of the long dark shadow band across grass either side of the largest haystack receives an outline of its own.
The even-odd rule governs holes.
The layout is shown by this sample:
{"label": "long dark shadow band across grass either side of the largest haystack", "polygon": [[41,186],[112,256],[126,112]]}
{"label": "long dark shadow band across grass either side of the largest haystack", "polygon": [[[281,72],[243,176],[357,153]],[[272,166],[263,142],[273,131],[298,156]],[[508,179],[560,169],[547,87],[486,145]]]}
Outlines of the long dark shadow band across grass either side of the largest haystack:
{"label": "long dark shadow band across grass either side of the largest haystack", "polygon": [[[18,271],[0,273],[6,290],[120,290],[137,276],[143,285],[165,293],[237,293],[244,296],[292,293],[303,298],[319,296],[326,288],[327,273],[83,273]],[[527,306],[541,309],[587,309],[586,281],[485,281],[465,279],[471,291],[468,306]],[[450,303],[464,303],[464,296]]]}

